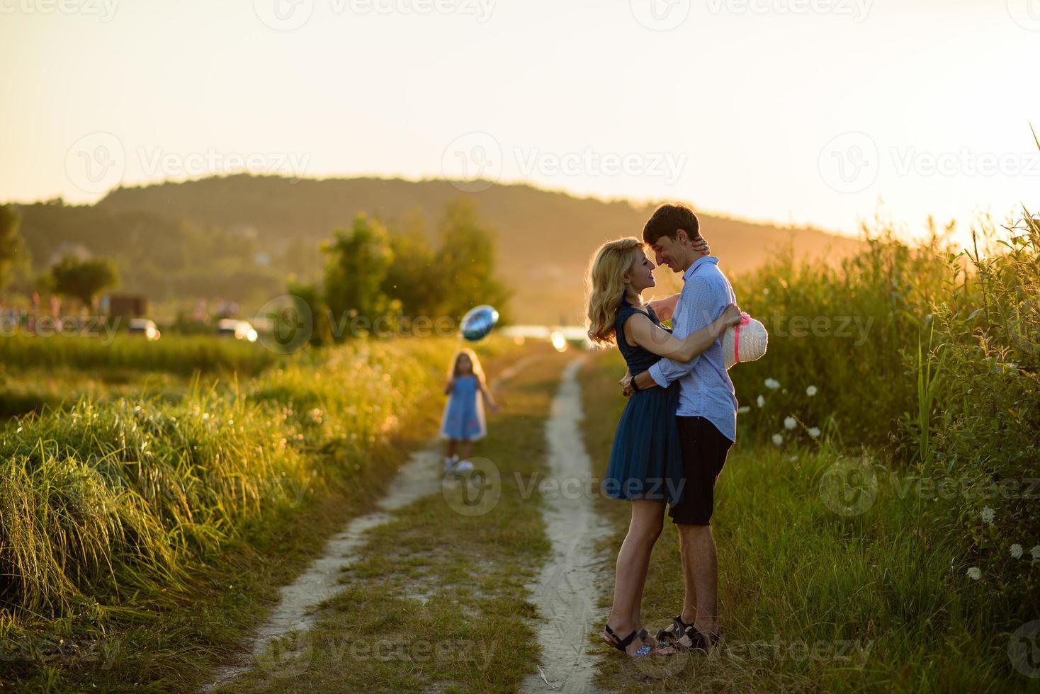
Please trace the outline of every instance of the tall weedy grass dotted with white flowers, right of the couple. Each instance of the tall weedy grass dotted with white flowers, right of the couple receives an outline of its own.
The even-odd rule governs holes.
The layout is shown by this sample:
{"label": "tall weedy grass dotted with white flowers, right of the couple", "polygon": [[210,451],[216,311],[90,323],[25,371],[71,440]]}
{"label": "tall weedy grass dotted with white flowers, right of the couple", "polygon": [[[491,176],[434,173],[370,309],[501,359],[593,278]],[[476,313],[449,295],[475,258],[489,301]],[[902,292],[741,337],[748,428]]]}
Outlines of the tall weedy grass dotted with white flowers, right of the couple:
{"label": "tall weedy grass dotted with white flowers, right of the couple", "polygon": [[948,548],[954,578],[934,588],[1013,630],[1040,618],[1040,218],[973,237],[911,246],[882,226],[840,268],[781,256],[740,277],[770,348],[730,374],[745,442],[870,456],[921,548]]}

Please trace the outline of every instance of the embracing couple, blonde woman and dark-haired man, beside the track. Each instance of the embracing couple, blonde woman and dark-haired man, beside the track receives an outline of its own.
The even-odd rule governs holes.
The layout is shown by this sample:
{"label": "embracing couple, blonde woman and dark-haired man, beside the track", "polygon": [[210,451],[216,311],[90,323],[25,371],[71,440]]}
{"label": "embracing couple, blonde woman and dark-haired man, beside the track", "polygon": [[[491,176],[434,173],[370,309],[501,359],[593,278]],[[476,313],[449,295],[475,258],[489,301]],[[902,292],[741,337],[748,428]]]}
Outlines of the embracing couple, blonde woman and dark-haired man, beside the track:
{"label": "embracing couple, blonde woman and dark-haired man, beside the track", "polygon": [[[682,292],[646,303],[657,265],[681,272]],[[628,656],[707,650],[719,640],[718,564],[711,535],[714,485],[736,438],[736,397],[722,336],[740,322],[729,281],[708,255],[693,210],[664,205],[643,240],[603,244],[589,274],[589,337],[617,345],[628,365],[628,404],[615,433],[604,492],[632,506],[618,553],[614,606],[603,640]],[[672,329],[661,320],[672,320]],[[651,636],[640,616],[650,552],[665,510],[679,532],[684,597],[672,623]]]}

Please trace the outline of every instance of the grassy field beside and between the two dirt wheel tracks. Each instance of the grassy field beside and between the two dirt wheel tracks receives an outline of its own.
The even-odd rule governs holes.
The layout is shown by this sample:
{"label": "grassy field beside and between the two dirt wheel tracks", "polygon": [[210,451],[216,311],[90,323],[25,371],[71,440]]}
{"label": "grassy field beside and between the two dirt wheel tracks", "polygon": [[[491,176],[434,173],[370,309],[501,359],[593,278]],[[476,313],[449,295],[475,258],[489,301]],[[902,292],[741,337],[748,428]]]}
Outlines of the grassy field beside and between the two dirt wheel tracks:
{"label": "grassy field beside and between the two dirt wheel tracks", "polygon": [[[889,231],[840,268],[778,256],[734,278],[771,343],[730,372],[743,408],[714,518],[728,639],[632,663],[593,638],[580,645],[602,657],[601,687],[1040,690],[1040,221],[982,228],[963,253]],[[456,346],[0,340],[0,416],[17,416],[0,424],[0,684],[210,682],[279,586],[428,444]],[[476,455],[544,474],[571,354],[504,340],[479,351],[492,377],[535,361],[502,383]],[[581,375],[594,475],[622,371],[597,353]],[[527,584],[550,542],[538,495],[518,484],[502,475],[485,515],[439,495],[395,510],[313,632],[282,644],[307,639],[307,659],[259,664],[226,690],[522,686],[542,624]],[[615,529],[598,548],[609,562],[628,508],[595,508]],[[666,528],[643,603],[652,629],[681,595]],[[598,588],[605,609],[613,571]]]}

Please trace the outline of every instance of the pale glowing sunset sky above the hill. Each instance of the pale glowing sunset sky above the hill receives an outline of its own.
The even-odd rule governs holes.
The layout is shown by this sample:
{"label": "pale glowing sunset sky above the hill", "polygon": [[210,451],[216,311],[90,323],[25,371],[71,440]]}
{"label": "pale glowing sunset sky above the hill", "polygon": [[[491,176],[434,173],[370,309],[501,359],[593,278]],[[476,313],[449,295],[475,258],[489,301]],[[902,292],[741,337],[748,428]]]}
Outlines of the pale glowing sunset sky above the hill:
{"label": "pale glowing sunset sky above the hill", "polygon": [[1040,0],[0,0],[0,57],[4,202],[249,170],[847,234],[1038,207]]}

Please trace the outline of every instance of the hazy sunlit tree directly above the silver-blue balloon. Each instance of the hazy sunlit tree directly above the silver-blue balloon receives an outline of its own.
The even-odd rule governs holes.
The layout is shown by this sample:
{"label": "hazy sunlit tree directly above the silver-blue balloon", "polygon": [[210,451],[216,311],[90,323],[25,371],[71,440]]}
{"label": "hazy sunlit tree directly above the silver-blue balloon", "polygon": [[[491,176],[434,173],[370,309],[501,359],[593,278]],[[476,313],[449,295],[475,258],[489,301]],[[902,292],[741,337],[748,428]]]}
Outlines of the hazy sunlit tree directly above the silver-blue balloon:
{"label": "hazy sunlit tree directly above the silver-blue balloon", "polygon": [[440,246],[434,260],[443,292],[440,311],[462,317],[480,303],[502,310],[510,292],[495,276],[495,235],[477,224],[473,205],[449,203],[439,226]]}

